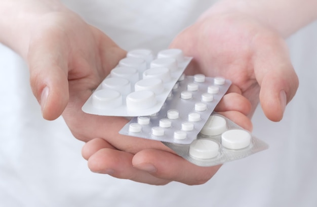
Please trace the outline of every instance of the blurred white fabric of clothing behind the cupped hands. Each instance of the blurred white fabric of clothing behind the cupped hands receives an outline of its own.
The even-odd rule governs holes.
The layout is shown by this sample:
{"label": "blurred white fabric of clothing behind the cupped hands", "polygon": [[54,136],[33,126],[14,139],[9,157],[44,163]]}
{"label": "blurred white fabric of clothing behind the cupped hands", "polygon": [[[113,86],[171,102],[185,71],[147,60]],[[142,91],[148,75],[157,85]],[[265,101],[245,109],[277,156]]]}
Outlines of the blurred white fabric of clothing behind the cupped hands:
{"label": "blurred white fabric of clothing behind the cupped hands", "polygon": [[[64,1],[126,50],[166,49],[210,1]],[[149,3],[150,2],[150,3]],[[145,8],[145,9],[144,9]],[[284,119],[261,108],[253,134],[270,148],[225,163],[206,184],[151,186],[89,171],[64,120],[42,118],[28,70],[0,45],[0,206],[317,206],[317,22],[287,41],[300,79]]]}

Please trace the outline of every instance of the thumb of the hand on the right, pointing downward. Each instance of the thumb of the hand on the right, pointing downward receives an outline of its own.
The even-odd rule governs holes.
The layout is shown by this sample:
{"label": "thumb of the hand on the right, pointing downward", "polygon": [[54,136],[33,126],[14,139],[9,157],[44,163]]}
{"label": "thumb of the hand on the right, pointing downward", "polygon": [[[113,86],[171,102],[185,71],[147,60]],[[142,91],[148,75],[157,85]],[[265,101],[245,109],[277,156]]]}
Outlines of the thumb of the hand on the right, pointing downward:
{"label": "thumb of the hand on the right, pointing downward", "polygon": [[254,70],[261,86],[260,103],[270,120],[279,121],[297,91],[298,77],[283,39],[264,33],[254,38],[254,45],[258,48]]}

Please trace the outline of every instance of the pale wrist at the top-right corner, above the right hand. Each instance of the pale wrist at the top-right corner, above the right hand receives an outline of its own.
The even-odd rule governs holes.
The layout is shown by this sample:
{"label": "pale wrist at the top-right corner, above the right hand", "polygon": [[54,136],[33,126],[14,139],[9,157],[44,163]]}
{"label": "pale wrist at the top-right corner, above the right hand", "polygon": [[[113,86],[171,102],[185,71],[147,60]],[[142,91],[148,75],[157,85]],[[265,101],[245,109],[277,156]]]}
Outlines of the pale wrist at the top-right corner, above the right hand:
{"label": "pale wrist at the top-right corner, above the right hand", "polygon": [[286,38],[317,18],[317,1],[222,0],[207,10],[200,20],[223,14],[252,18]]}

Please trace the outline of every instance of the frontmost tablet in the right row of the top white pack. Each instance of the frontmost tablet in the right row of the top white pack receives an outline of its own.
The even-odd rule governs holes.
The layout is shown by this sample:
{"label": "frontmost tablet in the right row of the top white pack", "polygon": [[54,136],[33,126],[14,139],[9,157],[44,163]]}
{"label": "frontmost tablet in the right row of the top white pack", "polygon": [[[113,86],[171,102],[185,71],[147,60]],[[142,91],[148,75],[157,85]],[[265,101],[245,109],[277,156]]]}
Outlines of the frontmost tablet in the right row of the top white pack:
{"label": "frontmost tablet in the right row of the top white pack", "polygon": [[127,109],[142,111],[156,104],[155,94],[152,91],[136,91],[127,96]]}

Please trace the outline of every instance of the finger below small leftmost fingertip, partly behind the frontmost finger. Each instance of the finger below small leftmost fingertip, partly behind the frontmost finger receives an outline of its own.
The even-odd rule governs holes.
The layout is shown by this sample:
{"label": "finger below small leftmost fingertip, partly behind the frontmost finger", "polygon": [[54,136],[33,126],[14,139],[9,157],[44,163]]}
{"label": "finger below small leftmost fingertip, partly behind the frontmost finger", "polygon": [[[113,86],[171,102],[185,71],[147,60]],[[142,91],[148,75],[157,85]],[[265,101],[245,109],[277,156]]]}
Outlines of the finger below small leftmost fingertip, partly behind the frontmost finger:
{"label": "finger below small leftmost fingertip, partly behind the frontmost finger", "polygon": [[132,165],[133,154],[110,148],[98,150],[88,159],[88,167],[96,173],[108,174],[115,178],[129,179],[152,185],[164,185],[169,180],[156,178]]}

